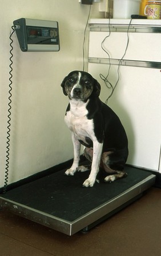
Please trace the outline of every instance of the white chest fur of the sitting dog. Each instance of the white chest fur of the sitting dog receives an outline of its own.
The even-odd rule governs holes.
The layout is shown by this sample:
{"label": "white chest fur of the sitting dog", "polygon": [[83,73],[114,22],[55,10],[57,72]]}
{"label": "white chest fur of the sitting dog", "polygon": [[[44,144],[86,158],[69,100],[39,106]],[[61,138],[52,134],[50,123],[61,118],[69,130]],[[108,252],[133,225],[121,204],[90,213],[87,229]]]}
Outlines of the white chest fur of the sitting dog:
{"label": "white chest fur of the sitting dog", "polygon": [[87,119],[86,104],[71,104],[70,111],[67,111],[65,122],[71,132],[74,132],[77,139],[86,142],[86,137],[93,139],[94,124],[92,120]]}

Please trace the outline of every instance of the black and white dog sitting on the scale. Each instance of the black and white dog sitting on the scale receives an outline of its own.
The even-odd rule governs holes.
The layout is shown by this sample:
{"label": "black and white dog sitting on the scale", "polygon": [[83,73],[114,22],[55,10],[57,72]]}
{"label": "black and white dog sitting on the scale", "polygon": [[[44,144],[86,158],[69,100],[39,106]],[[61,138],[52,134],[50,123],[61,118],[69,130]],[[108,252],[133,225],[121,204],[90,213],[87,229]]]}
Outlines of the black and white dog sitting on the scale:
{"label": "black and white dog sitting on the scale", "polygon": [[[126,132],[119,117],[99,99],[100,84],[89,73],[73,71],[61,84],[69,97],[65,122],[71,131],[74,161],[66,175],[91,170],[84,187],[94,186],[99,167],[108,174],[104,181],[126,177],[123,171],[128,156]],[[79,166],[80,144],[90,166]]]}

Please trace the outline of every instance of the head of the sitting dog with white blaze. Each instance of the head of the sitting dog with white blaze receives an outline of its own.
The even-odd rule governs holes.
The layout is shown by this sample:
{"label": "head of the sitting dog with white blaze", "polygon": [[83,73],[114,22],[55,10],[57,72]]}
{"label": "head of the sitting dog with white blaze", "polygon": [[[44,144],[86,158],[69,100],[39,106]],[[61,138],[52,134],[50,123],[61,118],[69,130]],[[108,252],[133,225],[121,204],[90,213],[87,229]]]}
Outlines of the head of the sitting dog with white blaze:
{"label": "head of the sitting dog with white blaze", "polygon": [[99,97],[100,84],[91,74],[84,71],[73,71],[64,78],[61,84],[63,93],[70,100],[86,101],[90,96]]}

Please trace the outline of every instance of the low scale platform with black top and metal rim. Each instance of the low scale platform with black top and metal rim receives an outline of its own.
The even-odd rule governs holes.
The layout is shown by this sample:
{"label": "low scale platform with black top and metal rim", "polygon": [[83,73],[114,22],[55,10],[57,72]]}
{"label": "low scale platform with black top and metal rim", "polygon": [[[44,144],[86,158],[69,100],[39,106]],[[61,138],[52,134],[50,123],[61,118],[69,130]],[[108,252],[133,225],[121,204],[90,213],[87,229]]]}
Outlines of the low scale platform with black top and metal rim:
{"label": "low scale platform with black top and metal rim", "polygon": [[127,178],[85,188],[88,172],[64,175],[65,170],[13,188],[0,195],[0,207],[67,235],[107,219],[155,183],[155,175],[126,166]]}

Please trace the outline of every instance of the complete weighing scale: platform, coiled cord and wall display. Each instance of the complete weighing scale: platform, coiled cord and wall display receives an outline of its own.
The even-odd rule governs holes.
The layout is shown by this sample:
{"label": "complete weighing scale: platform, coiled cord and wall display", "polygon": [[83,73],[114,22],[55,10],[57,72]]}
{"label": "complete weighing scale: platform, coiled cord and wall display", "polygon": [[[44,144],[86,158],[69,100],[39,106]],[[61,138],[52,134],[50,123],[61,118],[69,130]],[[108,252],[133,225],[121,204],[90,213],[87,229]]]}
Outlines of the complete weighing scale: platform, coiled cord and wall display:
{"label": "complete weighing scale: platform, coiled cord and wall display", "polygon": [[[21,50],[24,52],[59,50],[58,22],[17,19],[14,21],[10,40],[14,30]],[[12,43],[13,40],[10,46]],[[11,46],[10,53],[12,50]],[[13,64],[12,57],[11,53],[10,68]],[[12,70],[11,68],[9,93],[12,89]],[[11,93],[5,183],[7,183],[9,171],[10,98]],[[65,170],[48,172],[41,178],[19,183],[17,187],[5,187],[5,193],[0,192],[0,207],[67,235],[73,235],[80,230],[88,231],[134,202],[155,183],[155,175],[148,171],[131,166],[126,166],[125,171],[128,174],[127,178],[115,180],[114,183],[104,183],[103,176],[98,177],[100,182],[90,188],[82,187],[89,172],[77,172],[74,176],[64,175]]]}

